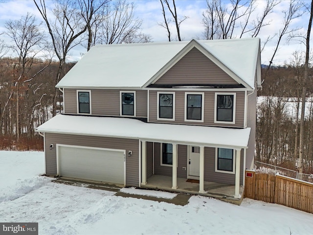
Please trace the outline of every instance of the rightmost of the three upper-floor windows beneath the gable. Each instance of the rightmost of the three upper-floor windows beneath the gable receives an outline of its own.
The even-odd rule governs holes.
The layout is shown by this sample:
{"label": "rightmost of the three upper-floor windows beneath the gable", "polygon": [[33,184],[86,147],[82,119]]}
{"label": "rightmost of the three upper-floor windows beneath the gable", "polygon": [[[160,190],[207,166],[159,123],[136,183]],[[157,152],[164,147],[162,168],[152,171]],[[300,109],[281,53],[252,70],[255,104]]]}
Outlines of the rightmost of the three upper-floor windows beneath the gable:
{"label": "rightmost of the three upper-floor windows beneath the gable", "polygon": [[235,123],[236,93],[215,94],[215,122]]}

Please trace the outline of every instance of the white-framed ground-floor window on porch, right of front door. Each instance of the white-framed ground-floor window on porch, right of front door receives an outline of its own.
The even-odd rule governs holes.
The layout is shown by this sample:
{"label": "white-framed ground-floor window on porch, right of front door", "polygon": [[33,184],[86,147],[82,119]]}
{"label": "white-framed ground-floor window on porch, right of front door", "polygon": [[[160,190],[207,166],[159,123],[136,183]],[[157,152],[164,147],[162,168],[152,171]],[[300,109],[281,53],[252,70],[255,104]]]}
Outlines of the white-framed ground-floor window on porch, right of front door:
{"label": "white-framed ground-floor window on porch, right of front door", "polygon": [[230,148],[216,148],[215,171],[235,173],[234,150]]}

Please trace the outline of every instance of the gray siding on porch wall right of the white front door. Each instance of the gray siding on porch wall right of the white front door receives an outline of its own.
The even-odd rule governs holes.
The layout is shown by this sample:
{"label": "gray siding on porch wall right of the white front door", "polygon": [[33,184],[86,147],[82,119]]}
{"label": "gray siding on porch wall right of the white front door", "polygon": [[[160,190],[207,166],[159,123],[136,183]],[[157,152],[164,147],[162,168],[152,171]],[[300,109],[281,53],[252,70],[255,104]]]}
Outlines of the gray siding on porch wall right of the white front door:
{"label": "gray siding on porch wall right of the white front door", "polygon": [[[243,167],[244,149],[241,150],[240,156],[240,185],[243,185]],[[235,184],[235,174],[215,172],[215,148],[204,147],[204,181]]]}

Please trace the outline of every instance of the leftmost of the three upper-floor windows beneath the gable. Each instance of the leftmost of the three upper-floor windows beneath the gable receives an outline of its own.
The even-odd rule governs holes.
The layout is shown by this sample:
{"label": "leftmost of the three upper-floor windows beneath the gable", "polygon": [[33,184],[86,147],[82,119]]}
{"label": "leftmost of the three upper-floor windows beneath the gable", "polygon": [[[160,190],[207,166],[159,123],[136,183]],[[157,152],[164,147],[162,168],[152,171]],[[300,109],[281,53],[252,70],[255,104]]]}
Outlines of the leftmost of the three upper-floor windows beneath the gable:
{"label": "leftmost of the three upper-floor windows beneath the gable", "polygon": [[157,119],[175,120],[175,93],[157,92]]}

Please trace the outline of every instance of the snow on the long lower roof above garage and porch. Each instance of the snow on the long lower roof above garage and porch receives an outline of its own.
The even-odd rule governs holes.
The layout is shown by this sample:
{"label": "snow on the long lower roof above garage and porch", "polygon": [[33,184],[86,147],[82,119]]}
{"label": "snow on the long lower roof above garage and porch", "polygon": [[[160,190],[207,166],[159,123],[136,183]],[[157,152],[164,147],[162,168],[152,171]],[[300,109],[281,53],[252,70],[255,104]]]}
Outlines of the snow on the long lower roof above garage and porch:
{"label": "snow on the long lower roof above garage and porch", "polygon": [[146,123],[132,118],[57,115],[37,132],[102,136],[218,147],[247,148],[250,128]]}

